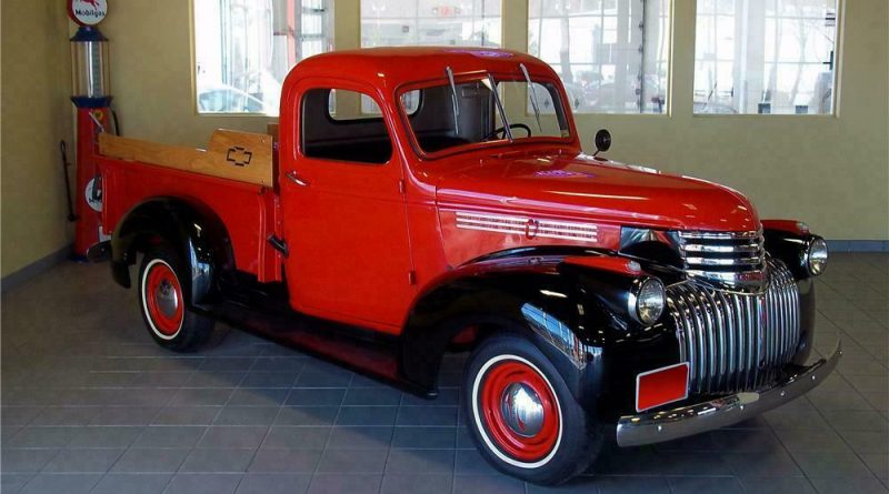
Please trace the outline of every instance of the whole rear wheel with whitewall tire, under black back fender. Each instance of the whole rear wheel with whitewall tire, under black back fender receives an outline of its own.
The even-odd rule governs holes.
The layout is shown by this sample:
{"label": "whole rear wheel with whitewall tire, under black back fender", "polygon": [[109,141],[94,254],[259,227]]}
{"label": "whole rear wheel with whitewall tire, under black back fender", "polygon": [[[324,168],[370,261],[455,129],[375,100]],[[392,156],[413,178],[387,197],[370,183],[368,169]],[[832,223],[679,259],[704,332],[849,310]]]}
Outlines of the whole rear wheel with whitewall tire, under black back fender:
{"label": "whole rear wheel with whitewall tire, under black back fender", "polygon": [[181,263],[172,249],[146,252],[139,270],[139,306],[154,341],[176,352],[193,352],[213,330],[213,321],[189,310],[182,286]]}

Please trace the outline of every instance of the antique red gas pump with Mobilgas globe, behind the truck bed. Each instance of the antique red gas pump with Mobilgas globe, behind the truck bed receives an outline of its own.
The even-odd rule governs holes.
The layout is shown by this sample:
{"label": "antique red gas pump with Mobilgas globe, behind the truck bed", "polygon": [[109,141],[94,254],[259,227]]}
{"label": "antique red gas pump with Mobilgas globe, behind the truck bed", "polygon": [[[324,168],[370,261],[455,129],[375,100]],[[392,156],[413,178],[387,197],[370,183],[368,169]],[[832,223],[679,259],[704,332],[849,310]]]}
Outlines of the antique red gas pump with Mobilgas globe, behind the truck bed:
{"label": "antique red gas pump with Mobilgas globe, behind the truck bed", "polygon": [[77,180],[74,255],[86,256],[102,240],[102,184],[96,167],[99,133],[108,129],[111,94],[108,39],[96,26],[108,12],[107,0],[69,0],[68,16],[79,24],[71,38],[72,92],[77,107]]}

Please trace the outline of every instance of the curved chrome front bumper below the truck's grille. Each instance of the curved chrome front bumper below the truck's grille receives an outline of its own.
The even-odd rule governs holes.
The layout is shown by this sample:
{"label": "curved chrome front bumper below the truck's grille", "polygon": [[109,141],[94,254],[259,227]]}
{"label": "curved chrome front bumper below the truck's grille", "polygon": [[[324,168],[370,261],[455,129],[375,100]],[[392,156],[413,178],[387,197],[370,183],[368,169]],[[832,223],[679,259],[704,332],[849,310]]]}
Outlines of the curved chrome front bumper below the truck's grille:
{"label": "curved chrome front bumper below the truck's grille", "polygon": [[795,400],[820,384],[842,355],[840,342],[833,354],[800,369],[759,392],[738,393],[705,403],[661,412],[625,415],[617,426],[620,446],[640,446],[699,434],[736,424]]}

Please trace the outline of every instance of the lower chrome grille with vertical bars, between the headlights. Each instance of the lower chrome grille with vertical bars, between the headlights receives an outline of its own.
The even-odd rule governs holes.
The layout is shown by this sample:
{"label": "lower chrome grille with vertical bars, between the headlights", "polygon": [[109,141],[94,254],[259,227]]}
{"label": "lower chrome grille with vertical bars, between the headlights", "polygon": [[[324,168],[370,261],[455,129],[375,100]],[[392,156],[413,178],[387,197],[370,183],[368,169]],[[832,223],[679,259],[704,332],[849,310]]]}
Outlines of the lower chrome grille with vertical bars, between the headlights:
{"label": "lower chrome grille with vertical bars, between the headlights", "polygon": [[787,266],[768,261],[765,291],[740,293],[687,281],[667,289],[689,391],[756,390],[790,362],[800,337],[799,291]]}

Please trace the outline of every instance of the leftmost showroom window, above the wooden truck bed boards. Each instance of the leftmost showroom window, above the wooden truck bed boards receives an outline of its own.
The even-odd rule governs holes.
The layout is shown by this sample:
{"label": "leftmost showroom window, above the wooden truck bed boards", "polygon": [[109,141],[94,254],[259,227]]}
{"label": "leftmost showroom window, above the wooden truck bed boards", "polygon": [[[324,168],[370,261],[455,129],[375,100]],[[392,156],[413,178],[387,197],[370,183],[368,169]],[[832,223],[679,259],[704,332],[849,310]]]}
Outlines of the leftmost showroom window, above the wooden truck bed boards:
{"label": "leftmost showroom window, above the wooden truck bed boards", "polygon": [[194,0],[199,113],[277,115],[300,60],[333,48],[333,0]]}

